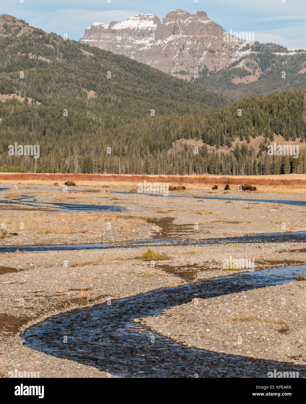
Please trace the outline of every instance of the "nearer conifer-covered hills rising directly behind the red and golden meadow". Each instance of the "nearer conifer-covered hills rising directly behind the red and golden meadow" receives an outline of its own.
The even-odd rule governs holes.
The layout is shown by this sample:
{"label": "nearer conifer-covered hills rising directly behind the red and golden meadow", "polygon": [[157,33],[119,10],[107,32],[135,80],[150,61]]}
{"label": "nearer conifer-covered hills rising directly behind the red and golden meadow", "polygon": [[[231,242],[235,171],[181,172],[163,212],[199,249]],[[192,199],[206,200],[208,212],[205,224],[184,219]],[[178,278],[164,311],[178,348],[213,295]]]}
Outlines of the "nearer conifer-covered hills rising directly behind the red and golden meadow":
{"label": "nearer conifer-covered hills rising directly behind the red and golden meadow", "polygon": [[[274,134],[306,141],[305,90],[249,97],[226,106],[230,99],[200,85],[40,29],[18,36],[20,24],[10,28],[9,22],[4,18],[5,30],[0,30],[3,171],[306,171],[304,153],[293,159],[267,156],[265,151]],[[248,142],[257,135],[264,135],[266,141],[255,155]],[[218,151],[237,137],[246,139],[247,145],[233,152]],[[217,152],[204,146],[198,154],[187,147],[180,154],[168,154],[172,142],[181,138],[203,139]],[[40,158],[9,156],[8,145],[15,142],[40,145]]]}

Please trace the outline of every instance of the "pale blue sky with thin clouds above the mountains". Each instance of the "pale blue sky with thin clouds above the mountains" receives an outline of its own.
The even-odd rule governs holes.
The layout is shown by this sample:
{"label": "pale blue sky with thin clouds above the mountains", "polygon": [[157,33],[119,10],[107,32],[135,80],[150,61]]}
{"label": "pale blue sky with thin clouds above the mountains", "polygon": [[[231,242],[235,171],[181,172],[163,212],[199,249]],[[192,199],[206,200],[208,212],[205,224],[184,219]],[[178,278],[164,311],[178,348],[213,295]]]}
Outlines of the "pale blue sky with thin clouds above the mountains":
{"label": "pale blue sky with thin clouds above the mountains", "polygon": [[[124,21],[139,13],[161,20],[172,10],[206,11],[226,31],[254,31],[255,40],[306,48],[306,0],[0,0],[0,13],[78,40],[94,22]],[[109,0],[110,1],[110,0]]]}

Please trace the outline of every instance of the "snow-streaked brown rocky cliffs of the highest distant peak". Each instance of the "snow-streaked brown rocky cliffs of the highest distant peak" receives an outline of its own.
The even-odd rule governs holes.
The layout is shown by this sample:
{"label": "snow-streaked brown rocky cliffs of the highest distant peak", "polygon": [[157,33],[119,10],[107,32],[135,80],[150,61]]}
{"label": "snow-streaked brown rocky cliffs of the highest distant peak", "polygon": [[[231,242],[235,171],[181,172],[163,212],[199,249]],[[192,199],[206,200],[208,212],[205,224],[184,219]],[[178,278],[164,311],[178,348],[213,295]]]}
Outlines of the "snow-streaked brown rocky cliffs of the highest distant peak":
{"label": "snow-streaked brown rocky cliffs of the highest distant peak", "polygon": [[204,11],[196,15],[171,11],[161,22],[139,14],[127,21],[94,23],[80,42],[126,55],[163,72],[188,80],[202,70],[219,70],[243,55],[243,42],[224,40],[224,29]]}

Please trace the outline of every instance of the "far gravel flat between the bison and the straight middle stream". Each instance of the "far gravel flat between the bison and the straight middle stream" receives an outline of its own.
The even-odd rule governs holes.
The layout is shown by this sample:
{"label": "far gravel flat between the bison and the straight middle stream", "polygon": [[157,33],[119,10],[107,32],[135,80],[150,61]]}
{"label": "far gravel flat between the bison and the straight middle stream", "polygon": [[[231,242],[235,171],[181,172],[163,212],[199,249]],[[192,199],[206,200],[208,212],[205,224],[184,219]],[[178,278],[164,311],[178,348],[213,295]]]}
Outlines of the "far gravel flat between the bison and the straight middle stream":
{"label": "far gravel flat between the bison and the straight middle stream", "polygon": [[[180,240],[306,231],[306,198],[304,195],[237,191],[226,191],[226,194],[224,191],[214,191],[213,193],[209,191],[199,191],[198,193],[170,191],[169,197],[163,197],[137,193],[120,194],[116,193],[116,191],[119,192],[117,187],[70,187],[68,192],[64,192],[54,185],[36,184],[27,187],[18,185],[19,188],[14,190],[13,184],[0,184],[0,187],[4,186],[12,189],[0,191],[0,219],[4,221],[1,223],[8,222],[8,227],[15,227],[18,236],[0,240],[1,245],[14,245],[17,241],[19,245],[27,245],[28,243],[72,244],[84,242],[84,240],[87,240],[86,242],[141,240],[151,238],[156,231],[154,225],[162,220],[167,222],[167,235]],[[70,191],[70,189],[72,190]],[[89,189],[98,192],[84,192]],[[121,191],[127,190],[121,188]],[[15,196],[9,197],[10,195]],[[32,196],[36,202],[22,200],[21,195]],[[177,196],[181,196],[181,198]],[[247,198],[254,199],[255,202],[238,199],[233,201],[198,199],[192,196]],[[257,201],[260,199],[301,201],[304,206]],[[16,203],[8,205],[3,202]],[[47,204],[40,202],[47,202]],[[84,213],[70,212],[69,218],[61,217],[61,214],[57,213],[58,219],[53,217],[52,221],[57,221],[58,224],[59,221],[63,221],[61,230],[56,235],[55,233],[44,234],[40,227],[31,226],[31,224],[37,223],[35,217],[40,209],[52,211],[59,208],[53,203],[116,205],[131,212],[114,215],[114,220],[109,217],[99,218],[97,214],[95,218],[95,213],[87,213],[92,217],[89,217],[86,223],[82,220]],[[14,210],[8,210],[10,206]],[[23,211],[23,209],[29,208],[33,209],[30,214],[29,210]],[[65,211],[66,214],[68,214],[67,212]],[[44,215],[46,213],[40,212],[39,220],[44,221]],[[126,221],[123,228],[120,228],[120,224],[117,223],[119,217]],[[144,221],[149,219],[152,222],[133,223],[133,218],[136,217],[142,218]],[[20,229],[20,222],[23,219],[29,225],[27,226],[25,223],[24,228]],[[111,228],[107,228],[109,222],[112,224]],[[46,228],[50,227],[50,223],[51,221],[46,221]]]}

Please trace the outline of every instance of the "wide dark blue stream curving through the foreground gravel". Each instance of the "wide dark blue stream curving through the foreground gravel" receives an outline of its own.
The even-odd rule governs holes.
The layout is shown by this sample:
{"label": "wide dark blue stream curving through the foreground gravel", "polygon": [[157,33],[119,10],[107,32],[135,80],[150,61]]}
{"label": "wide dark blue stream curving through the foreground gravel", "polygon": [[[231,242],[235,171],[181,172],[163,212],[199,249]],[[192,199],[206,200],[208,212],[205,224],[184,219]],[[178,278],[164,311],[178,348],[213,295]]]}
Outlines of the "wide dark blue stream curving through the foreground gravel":
{"label": "wide dark blue stream curving through the foreground gravel", "polygon": [[[135,325],[134,318],[159,315],[162,310],[306,276],[306,265],[251,271],[190,283],[111,301],[52,317],[27,329],[25,345],[58,358],[95,366],[123,377],[267,377],[268,372],[298,371],[306,366],[233,356],[179,345]],[[149,334],[151,332],[151,334]],[[154,343],[152,336],[154,335]],[[63,343],[63,337],[68,343]]]}

